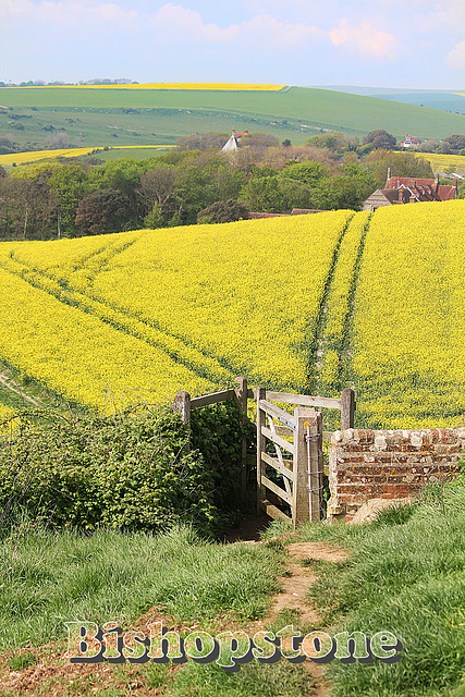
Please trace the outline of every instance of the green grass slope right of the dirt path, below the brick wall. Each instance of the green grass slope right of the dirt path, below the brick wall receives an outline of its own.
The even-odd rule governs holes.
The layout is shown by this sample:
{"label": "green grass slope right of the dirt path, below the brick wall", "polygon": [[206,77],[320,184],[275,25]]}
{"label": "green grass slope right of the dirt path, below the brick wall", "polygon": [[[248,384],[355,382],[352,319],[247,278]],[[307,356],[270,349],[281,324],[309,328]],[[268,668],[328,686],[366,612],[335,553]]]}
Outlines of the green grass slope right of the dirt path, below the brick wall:
{"label": "green grass slope right of the dirt path, below the brick wall", "polygon": [[334,697],[460,695],[465,677],[465,482],[450,485],[445,515],[438,497],[367,526],[306,526],[303,539],[352,548],[335,567],[320,567],[311,598],[327,622],[372,636],[390,631],[403,644],[394,665],[375,661],[329,674]]}

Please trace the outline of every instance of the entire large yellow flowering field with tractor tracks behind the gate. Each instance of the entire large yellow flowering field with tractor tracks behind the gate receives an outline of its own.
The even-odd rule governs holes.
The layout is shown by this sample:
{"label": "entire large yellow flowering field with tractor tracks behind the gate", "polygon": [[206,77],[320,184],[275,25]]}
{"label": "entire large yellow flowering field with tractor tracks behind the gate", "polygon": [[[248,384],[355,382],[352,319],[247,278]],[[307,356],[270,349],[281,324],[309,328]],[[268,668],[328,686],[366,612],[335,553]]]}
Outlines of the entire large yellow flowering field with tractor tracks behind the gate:
{"label": "entire large yellow flowering field with tractor tracks behind the gate", "polygon": [[369,427],[465,412],[465,201],[0,245],[0,357],[105,408],[211,391],[357,391]]}

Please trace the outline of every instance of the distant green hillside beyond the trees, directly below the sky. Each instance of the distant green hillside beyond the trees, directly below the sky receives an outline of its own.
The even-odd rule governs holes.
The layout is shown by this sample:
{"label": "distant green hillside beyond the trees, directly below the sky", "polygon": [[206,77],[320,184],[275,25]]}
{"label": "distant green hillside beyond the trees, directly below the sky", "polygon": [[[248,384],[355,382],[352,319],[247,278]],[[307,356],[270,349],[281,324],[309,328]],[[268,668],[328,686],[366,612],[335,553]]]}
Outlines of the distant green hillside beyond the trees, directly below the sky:
{"label": "distant green hillside beyond the trees, directly below the sky", "polygon": [[83,146],[148,145],[235,127],[298,144],[320,130],[364,136],[386,129],[397,137],[414,133],[442,138],[462,133],[465,125],[465,117],[438,109],[304,87],[284,91],[2,87],[0,107],[7,107],[0,108],[0,137],[9,135],[22,146],[60,132]]}

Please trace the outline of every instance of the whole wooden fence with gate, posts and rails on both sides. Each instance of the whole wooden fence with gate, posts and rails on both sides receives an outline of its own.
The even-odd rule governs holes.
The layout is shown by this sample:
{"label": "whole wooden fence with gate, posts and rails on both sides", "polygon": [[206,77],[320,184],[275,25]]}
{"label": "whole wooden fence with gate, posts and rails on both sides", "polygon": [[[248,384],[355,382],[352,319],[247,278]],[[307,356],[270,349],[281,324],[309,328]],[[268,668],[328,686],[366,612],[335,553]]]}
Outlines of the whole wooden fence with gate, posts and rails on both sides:
{"label": "whole wooden fence with gate, posts and rails on both sides", "polygon": [[[247,419],[248,400],[257,401],[257,505],[276,518],[292,519],[294,526],[308,519],[321,517],[322,450],[323,440],[331,439],[331,432],[322,430],[321,412],[315,408],[332,408],[341,412],[341,429],[353,428],[355,394],[343,390],[341,399],[309,396],[286,392],[271,392],[264,387],[254,390],[247,387],[246,378],[237,378],[234,388],[204,394],[191,399],[188,392],[178,392],[174,408],[185,423],[191,421],[191,411],[200,406],[233,400],[243,421]],[[294,404],[294,415],[289,414],[272,402]],[[267,426],[268,421],[268,426]],[[293,437],[293,442],[289,438]],[[267,452],[266,441],[273,443],[276,457]],[[283,452],[284,451],[284,452]],[[290,456],[292,455],[292,460]],[[242,439],[242,499],[245,500],[247,486],[247,438]],[[283,479],[279,487],[266,475],[270,466]],[[271,497],[269,493],[271,492]],[[274,502],[269,498],[274,497]],[[291,516],[283,513],[277,503],[291,508]]]}

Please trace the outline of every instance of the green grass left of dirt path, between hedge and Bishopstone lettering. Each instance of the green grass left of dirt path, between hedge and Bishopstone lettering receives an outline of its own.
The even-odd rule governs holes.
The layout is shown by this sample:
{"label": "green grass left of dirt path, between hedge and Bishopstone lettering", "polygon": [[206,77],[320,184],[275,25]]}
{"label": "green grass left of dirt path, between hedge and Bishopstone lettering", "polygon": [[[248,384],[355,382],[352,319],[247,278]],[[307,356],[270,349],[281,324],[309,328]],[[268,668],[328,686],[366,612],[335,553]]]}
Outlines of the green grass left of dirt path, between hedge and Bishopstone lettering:
{"label": "green grass left of dirt path, between hedge and Bishopstone lettering", "polygon": [[180,622],[256,619],[280,554],[206,542],[188,528],[149,535],[51,533],[27,523],[0,546],[0,650],[65,637],[64,622],[127,626],[152,606]]}

